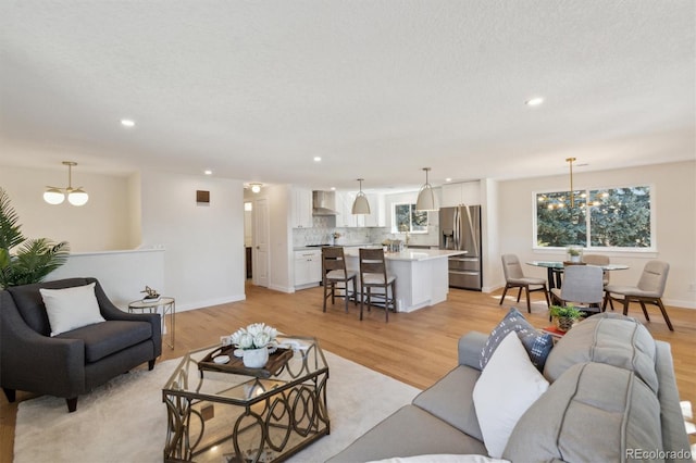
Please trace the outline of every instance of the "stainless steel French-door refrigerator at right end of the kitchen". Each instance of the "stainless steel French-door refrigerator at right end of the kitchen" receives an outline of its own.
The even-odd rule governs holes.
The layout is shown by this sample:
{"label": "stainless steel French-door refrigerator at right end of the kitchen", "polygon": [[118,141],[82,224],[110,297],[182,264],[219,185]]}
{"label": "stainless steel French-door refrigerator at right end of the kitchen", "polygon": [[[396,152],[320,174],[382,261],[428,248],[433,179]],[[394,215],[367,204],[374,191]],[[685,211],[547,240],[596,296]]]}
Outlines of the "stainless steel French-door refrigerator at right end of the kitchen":
{"label": "stainless steel French-door refrigerator at right end of the kitchen", "polygon": [[439,210],[440,249],[467,253],[449,258],[449,286],[481,291],[481,205]]}

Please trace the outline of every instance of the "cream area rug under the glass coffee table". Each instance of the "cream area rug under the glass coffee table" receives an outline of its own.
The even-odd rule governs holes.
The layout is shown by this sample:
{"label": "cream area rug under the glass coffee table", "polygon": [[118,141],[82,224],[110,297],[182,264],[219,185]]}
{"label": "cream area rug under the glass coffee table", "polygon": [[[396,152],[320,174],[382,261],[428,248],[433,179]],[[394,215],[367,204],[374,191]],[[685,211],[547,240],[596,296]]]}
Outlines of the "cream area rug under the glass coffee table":
{"label": "cream area rug under the glass coffee table", "polygon": [[[331,352],[324,354],[331,375],[331,435],[290,462],[324,462],[419,392]],[[54,397],[20,403],[14,462],[161,462],[166,434],[162,386],[178,362],[121,375],[80,396],[75,413],[67,413],[65,400]]]}

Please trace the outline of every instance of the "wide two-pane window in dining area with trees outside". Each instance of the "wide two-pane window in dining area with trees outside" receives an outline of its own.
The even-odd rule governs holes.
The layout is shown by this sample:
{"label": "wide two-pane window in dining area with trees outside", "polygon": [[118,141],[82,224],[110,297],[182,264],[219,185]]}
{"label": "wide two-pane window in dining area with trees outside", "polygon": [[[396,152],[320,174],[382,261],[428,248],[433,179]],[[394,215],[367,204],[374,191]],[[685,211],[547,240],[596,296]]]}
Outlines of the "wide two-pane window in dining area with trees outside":
{"label": "wide two-pane window in dining area with trees outside", "polygon": [[[571,205],[571,199],[573,204]],[[535,193],[536,248],[652,249],[650,187]]]}

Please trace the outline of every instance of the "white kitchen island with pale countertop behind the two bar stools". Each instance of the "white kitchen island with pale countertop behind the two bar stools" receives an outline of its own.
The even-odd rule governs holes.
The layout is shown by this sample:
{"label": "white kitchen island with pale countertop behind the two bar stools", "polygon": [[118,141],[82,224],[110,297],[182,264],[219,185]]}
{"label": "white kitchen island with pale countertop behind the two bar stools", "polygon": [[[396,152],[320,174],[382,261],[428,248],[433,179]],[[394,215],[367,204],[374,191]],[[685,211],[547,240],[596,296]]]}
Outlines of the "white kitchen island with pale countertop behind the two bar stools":
{"label": "white kitchen island with pale countertop behind the two bar stools", "polygon": [[[385,252],[387,273],[396,276],[397,312],[412,312],[447,300],[449,292],[448,262],[462,251],[443,249],[407,249]],[[360,271],[358,248],[346,248],[346,266]]]}

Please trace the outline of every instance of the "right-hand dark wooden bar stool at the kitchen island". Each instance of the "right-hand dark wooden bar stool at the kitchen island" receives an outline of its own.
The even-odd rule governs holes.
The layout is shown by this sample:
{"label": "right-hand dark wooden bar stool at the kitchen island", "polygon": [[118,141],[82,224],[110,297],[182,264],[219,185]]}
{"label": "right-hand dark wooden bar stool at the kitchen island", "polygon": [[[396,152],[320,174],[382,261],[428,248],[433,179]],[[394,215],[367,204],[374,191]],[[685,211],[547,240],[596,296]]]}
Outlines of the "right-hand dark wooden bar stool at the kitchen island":
{"label": "right-hand dark wooden bar stool at the kitchen island", "polygon": [[[387,275],[384,250],[360,248],[360,320],[362,320],[363,302],[368,303],[368,312],[372,305],[372,298],[384,301],[385,322],[389,321],[389,305],[396,312],[396,277]],[[373,288],[382,288],[384,292],[372,292]],[[389,288],[391,297],[389,298]]]}

